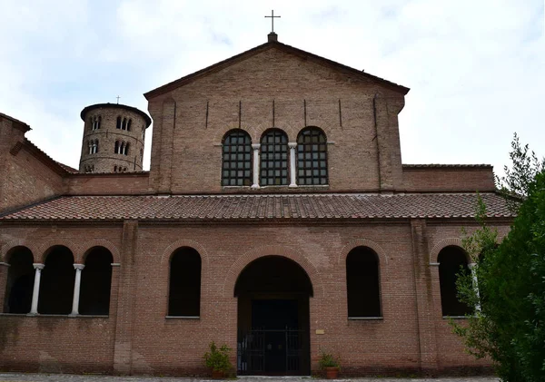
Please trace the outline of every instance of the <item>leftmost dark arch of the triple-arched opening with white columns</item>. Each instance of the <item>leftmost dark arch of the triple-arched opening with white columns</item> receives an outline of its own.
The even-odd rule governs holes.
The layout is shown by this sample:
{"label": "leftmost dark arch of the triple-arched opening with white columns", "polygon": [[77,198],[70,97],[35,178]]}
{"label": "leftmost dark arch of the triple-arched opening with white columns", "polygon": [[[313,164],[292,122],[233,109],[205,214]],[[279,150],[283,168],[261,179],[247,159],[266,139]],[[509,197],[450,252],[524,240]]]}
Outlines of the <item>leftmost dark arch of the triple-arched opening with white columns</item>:
{"label": "leftmost dark arch of the triple-arched opening with white columns", "polygon": [[5,288],[4,312],[30,312],[35,269],[32,252],[26,247],[15,247],[7,252],[9,269]]}

